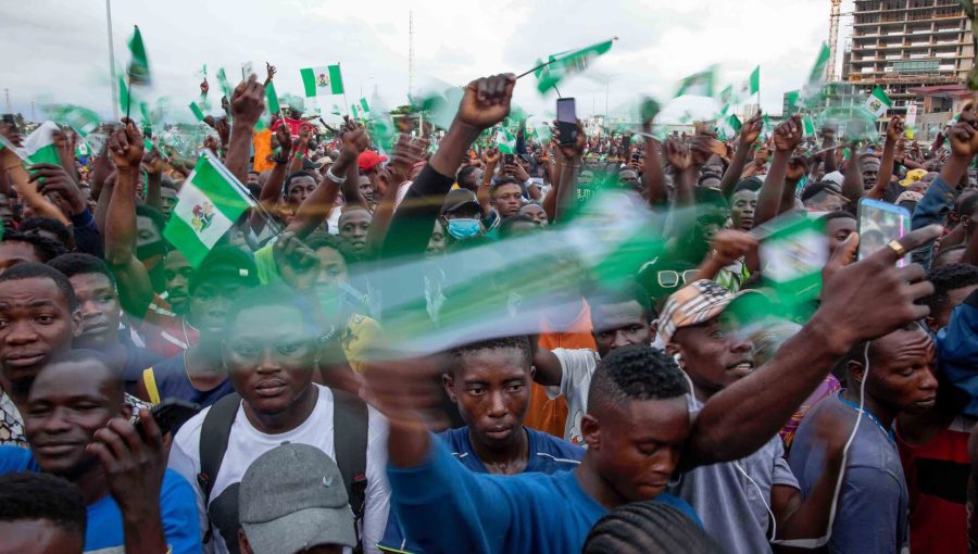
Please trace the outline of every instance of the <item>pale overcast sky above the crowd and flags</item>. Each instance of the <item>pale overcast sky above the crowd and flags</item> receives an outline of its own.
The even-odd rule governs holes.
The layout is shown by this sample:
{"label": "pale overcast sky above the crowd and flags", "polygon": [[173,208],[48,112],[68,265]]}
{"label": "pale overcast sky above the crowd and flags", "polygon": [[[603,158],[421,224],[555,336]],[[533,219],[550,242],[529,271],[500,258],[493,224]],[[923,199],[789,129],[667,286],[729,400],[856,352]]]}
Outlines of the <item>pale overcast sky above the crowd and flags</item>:
{"label": "pale overcast sky above the crowd and flags", "polygon": [[[843,12],[851,4],[843,2]],[[198,93],[196,73],[204,63],[212,91],[218,67],[240,77],[241,64],[252,62],[263,77],[269,61],[279,70],[279,95],[301,96],[300,68],[340,62],[349,102],[361,90],[371,98],[376,87],[393,106],[406,101],[409,11],[416,81],[462,85],[518,74],[538,58],[617,36],[610,53],[561,85],[564,96],[577,98],[579,115],[604,113],[605,89],[612,114],[643,93],[668,100],[678,79],[712,63],[720,67],[718,88],[741,81],[760,64],[762,105],[778,114],[781,95],[802,85],[827,40],[829,0],[115,0],[113,43],[124,65],[133,25],[139,25],[153,96],[167,97],[180,117],[189,117],[184,106]],[[104,0],[7,0],[0,21],[7,60],[0,88],[10,89],[14,111],[29,117],[35,101],[111,114]],[[843,37],[849,23],[843,17]],[[837,71],[841,52],[842,40]],[[537,92],[532,76],[516,87],[516,103],[529,113],[552,112],[554,99]],[[342,104],[342,98],[321,102]],[[707,110],[703,105],[682,99],[670,111]]]}

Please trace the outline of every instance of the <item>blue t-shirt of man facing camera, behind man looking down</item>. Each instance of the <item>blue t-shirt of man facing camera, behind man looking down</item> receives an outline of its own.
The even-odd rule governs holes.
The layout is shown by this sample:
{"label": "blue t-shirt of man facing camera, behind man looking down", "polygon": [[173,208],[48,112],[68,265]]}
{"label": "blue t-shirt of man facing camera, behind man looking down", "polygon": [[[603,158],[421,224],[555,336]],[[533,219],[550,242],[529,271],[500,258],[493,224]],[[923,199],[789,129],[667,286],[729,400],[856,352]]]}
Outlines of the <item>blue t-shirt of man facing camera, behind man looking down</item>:
{"label": "blue t-shirt of man facing camera, behind man looking down", "polygon": [[[529,446],[526,467],[523,473],[555,474],[568,471],[580,465],[585,450],[576,444],[557,439],[552,435],[540,432],[529,427],[523,428]],[[468,470],[477,474],[488,474],[489,470],[479,459],[468,439],[468,426],[457,429],[449,429],[438,435],[438,438],[451,451],[455,457]],[[422,547],[404,538],[404,532],[398,524],[398,518],[390,514],[387,518],[387,529],[384,530],[384,540],[380,549],[388,552],[411,552],[418,554],[424,552]]]}

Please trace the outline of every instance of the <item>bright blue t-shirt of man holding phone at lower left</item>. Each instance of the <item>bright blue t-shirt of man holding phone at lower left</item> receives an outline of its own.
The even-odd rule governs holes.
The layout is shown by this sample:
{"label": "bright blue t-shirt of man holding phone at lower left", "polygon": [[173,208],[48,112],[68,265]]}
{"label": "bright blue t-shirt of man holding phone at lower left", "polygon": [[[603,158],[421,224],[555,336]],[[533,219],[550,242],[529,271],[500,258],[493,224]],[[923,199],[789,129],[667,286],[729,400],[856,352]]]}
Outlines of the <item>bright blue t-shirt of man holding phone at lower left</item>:
{"label": "bright blue t-shirt of man holding phone at lower left", "polygon": [[[40,471],[30,451],[17,446],[0,446],[0,475],[15,471]],[[111,494],[87,506],[85,552],[113,549],[125,544],[122,512]],[[167,469],[160,488],[160,517],[163,533],[174,554],[200,553],[200,526],[197,496],[180,474]]]}

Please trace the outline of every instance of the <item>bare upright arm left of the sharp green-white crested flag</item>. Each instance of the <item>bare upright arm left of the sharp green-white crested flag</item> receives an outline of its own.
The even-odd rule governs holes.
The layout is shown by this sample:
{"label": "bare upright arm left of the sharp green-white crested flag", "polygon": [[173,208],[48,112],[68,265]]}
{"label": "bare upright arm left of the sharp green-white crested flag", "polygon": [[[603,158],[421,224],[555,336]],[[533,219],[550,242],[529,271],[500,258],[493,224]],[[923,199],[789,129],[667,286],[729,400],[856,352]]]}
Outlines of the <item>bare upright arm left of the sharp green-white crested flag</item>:
{"label": "bare upright arm left of the sharp green-white crested flag", "polygon": [[120,302],[127,313],[142,317],[153,298],[146,267],[136,257],[136,188],[142,162],[142,135],[131,122],[109,136],[115,162],[115,186],[105,218],[105,262],[118,281]]}

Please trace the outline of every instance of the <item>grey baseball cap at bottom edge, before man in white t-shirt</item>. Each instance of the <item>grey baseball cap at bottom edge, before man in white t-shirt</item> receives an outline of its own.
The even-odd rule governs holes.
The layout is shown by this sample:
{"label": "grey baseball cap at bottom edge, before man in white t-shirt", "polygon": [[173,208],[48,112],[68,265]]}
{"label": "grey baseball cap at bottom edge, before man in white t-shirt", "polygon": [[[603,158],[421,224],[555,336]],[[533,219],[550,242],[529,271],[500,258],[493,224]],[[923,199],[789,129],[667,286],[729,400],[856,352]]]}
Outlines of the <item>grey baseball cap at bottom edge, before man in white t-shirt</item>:
{"label": "grey baseball cap at bottom edge, before man in white t-shirt", "polygon": [[255,554],[356,544],[343,477],[309,444],[285,443],[259,456],[241,478],[238,512]]}

